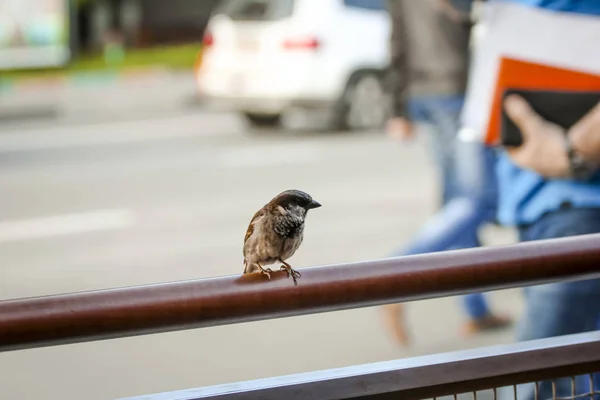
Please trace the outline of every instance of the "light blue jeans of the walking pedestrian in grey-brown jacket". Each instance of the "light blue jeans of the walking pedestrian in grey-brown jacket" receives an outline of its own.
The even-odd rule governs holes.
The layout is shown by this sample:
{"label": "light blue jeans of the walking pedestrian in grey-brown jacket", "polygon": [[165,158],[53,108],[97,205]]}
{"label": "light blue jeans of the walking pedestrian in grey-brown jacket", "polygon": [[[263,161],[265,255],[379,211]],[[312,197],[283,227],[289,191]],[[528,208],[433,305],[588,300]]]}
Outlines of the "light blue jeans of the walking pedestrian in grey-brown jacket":
{"label": "light blue jeans of the walking pedestrian in grey-brown jacket", "polygon": [[[479,247],[479,227],[496,214],[496,153],[457,140],[464,96],[422,97],[409,102],[411,118],[431,125],[431,150],[442,177],[442,209],[395,255]],[[489,315],[481,293],[462,297],[472,319]]]}

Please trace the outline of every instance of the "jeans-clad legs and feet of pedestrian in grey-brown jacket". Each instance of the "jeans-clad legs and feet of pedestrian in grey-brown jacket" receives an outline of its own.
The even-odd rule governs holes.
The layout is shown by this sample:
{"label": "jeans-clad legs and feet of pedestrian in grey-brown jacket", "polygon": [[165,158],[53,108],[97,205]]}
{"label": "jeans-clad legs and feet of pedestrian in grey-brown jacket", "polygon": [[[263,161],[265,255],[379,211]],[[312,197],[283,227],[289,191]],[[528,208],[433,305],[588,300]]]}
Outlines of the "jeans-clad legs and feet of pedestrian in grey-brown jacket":
{"label": "jeans-clad legs and feet of pedestrian in grey-brown jacket", "polygon": [[[483,163],[483,147],[476,150],[480,153],[456,154],[456,136],[459,127],[459,114],[463,104],[463,98],[418,98],[409,103],[411,117],[413,120],[427,123],[430,130],[430,149],[436,160],[436,166],[440,170],[443,180],[443,201],[445,206],[434,215],[417,234],[415,239],[404,249],[396,251],[394,256],[409,254],[423,254],[451,249],[463,249],[479,247],[477,231],[481,224],[489,219],[489,210],[481,199],[484,192],[480,186],[484,186],[483,179],[465,180],[457,178],[457,159],[468,159],[471,164],[462,163],[462,168],[468,170],[480,169]],[[466,157],[463,157],[466,156]],[[479,158],[478,158],[479,157]],[[472,164],[475,165],[472,165]],[[491,169],[491,167],[490,167]],[[495,174],[491,171],[491,177]],[[461,182],[468,182],[467,184]],[[492,181],[495,183],[495,180]],[[465,187],[460,188],[460,185]],[[470,195],[469,198],[464,195]],[[506,326],[510,320],[506,317],[494,315],[490,312],[487,301],[483,294],[475,293],[463,298],[463,305],[469,317],[464,331],[468,334],[478,332],[482,329],[494,329]],[[402,306],[394,305],[384,307],[384,317],[388,328],[396,340],[406,344],[407,334],[402,314]]]}

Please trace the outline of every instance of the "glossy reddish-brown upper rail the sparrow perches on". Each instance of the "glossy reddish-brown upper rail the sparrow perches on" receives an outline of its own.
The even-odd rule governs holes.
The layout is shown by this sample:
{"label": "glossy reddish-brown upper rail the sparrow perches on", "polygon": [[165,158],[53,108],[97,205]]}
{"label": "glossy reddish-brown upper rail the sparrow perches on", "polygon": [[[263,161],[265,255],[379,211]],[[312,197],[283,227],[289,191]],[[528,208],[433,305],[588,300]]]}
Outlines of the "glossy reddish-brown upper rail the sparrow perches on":
{"label": "glossy reddish-brown upper rail the sparrow perches on", "polygon": [[0,351],[600,276],[600,234],[0,302]]}

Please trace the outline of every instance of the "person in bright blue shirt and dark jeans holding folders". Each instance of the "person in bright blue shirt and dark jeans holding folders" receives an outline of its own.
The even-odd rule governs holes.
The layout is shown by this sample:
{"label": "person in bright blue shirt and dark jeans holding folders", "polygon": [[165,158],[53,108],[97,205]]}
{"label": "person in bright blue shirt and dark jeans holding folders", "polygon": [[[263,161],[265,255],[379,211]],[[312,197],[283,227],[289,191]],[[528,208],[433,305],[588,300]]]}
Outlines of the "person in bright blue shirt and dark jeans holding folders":
{"label": "person in bright blue shirt and dark jeans holding folders", "polygon": [[[544,14],[546,17],[580,14],[582,19],[585,15],[590,25],[600,24],[598,0],[488,2],[510,2],[515,3],[514,7],[520,4],[527,12],[536,8],[552,11],[552,14]],[[557,21],[556,28],[545,27],[539,35],[555,34],[564,29],[563,21]],[[582,35],[589,38],[590,33],[584,31]],[[589,42],[599,43],[600,37]],[[573,45],[576,43],[555,43],[549,51],[560,53],[566,46],[572,50]],[[514,43],[514,46],[523,48],[522,43]],[[592,51],[587,46],[581,47],[581,51]],[[503,52],[510,53],[510,47]],[[487,69],[487,64],[483,65]],[[595,68],[597,70],[598,66]],[[473,87],[478,85],[481,82],[473,82]],[[469,93],[475,93],[475,90]],[[600,233],[600,104],[568,130],[544,120],[520,96],[509,96],[503,108],[521,131],[523,144],[507,147],[499,154],[499,222],[516,227],[520,241]],[[600,279],[527,287],[524,296],[525,311],[516,332],[519,341],[600,328]],[[552,381],[541,382],[537,388],[533,384],[519,385],[518,398],[572,398],[572,389],[576,389],[578,397],[584,397],[585,393],[600,390],[598,374],[594,376],[594,387],[590,387],[587,377],[580,378],[576,380],[575,388],[571,387],[570,378],[555,380],[555,393]],[[513,398],[512,388],[506,391],[506,396]],[[594,399],[594,396],[589,395],[589,398]]]}

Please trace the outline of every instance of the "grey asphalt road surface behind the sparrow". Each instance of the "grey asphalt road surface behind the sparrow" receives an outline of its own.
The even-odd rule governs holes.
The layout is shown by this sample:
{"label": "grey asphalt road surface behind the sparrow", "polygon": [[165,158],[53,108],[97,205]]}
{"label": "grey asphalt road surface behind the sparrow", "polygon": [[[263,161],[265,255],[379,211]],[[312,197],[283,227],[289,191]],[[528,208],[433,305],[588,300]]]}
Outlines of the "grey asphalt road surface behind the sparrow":
{"label": "grey asphalt road surface behind the sparrow", "polygon": [[[240,273],[249,219],[288,188],[323,204],[296,267],[387,256],[437,199],[423,143],[379,132],[253,135],[207,112],[1,127],[0,299]],[[520,312],[516,291],[490,299]],[[455,298],[408,314],[407,349],[366,308],[0,353],[0,398],[114,399],[512,340],[510,330],[463,338]]]}

